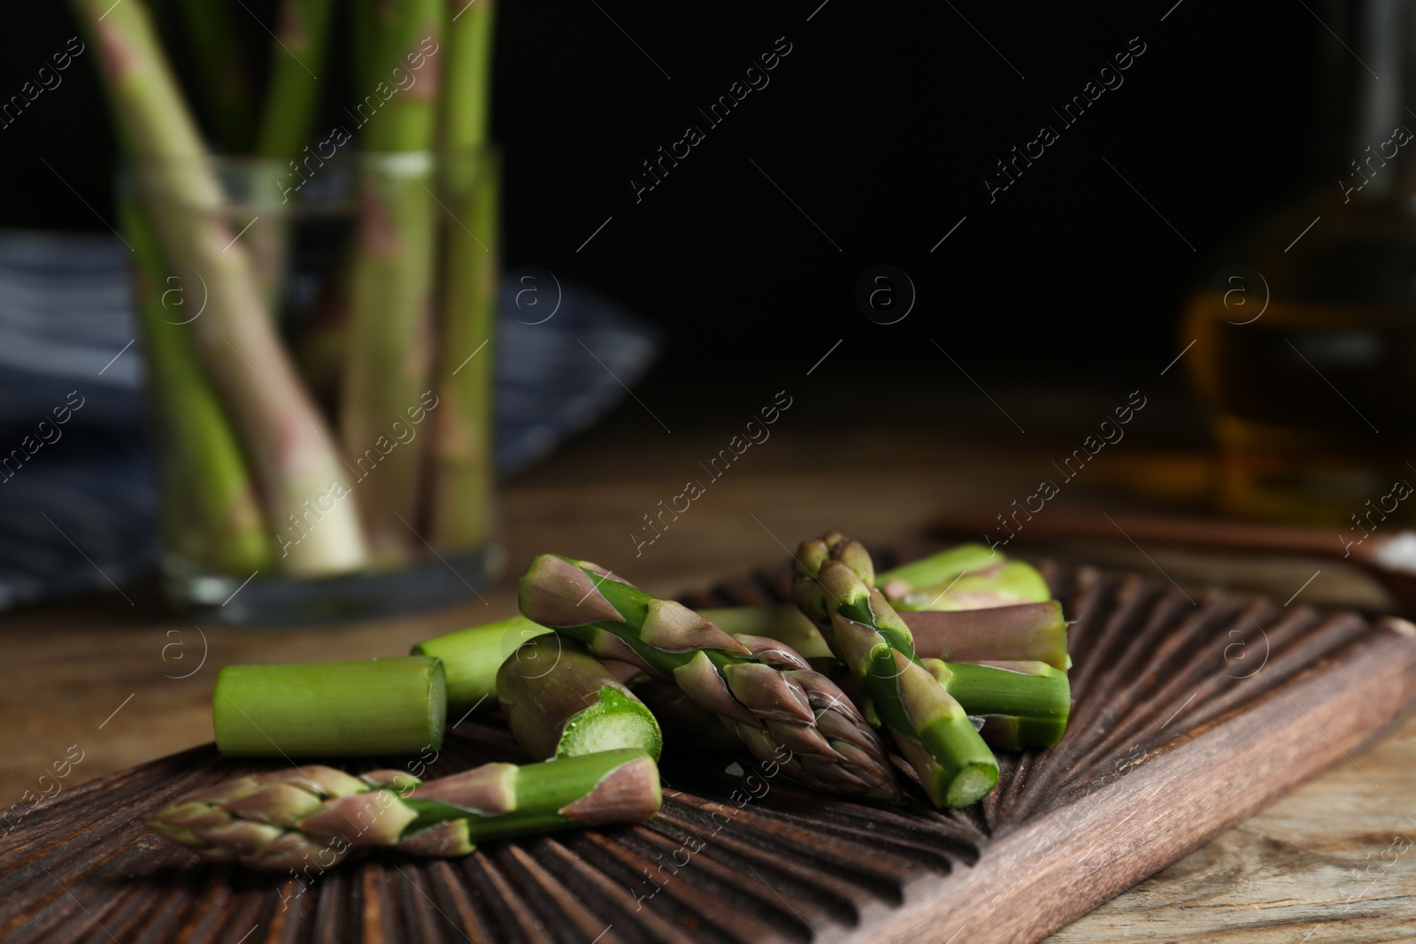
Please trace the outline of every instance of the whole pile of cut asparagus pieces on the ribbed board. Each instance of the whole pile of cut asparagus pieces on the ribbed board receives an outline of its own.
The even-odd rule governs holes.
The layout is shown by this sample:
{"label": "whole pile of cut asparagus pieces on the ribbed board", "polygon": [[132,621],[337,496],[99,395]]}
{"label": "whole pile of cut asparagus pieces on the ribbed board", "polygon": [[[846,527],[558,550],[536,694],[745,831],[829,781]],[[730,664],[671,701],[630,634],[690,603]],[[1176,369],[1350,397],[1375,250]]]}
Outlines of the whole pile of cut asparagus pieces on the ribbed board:
{"label": "whole pile of cut asparagus pieces on the ribbed board", "polygon": [[227,754],[436,750],[449,712],[494,695],[538,763],[426,783],[306,766],[178,798],[149,825],[211,859],[299,870],[362,846],[456,856],[493,838],[643,822],[660,807],[666,730],[700,752],[721,743],[707,733],[728,733],[823,793],[902,805],[913,778],[935,807],[966,807],[998,781],[994,749],[1065,733],[1066,621],[1029,565],[964,545],[877,575],[860,542],[827,534],[801,543],[794,573],[796,606],[694,611],[541,555],[518,617],[406,657],[228,667],[214,696]]}

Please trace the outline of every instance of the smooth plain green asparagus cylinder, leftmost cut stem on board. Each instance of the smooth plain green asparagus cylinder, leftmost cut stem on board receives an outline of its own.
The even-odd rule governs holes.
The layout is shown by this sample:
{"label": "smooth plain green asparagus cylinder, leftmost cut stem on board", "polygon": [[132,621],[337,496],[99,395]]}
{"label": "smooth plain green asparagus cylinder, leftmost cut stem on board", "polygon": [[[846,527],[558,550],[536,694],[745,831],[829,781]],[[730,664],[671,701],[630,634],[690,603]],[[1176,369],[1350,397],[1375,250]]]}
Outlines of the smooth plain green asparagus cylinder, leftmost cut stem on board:
{"label": "smooth plain green asparagus cylinder, leftmost cut stem on board", "polygon": [[217,749],[235,757],[416,754],[442,747],[442,662],[228,665],[211,702]]}

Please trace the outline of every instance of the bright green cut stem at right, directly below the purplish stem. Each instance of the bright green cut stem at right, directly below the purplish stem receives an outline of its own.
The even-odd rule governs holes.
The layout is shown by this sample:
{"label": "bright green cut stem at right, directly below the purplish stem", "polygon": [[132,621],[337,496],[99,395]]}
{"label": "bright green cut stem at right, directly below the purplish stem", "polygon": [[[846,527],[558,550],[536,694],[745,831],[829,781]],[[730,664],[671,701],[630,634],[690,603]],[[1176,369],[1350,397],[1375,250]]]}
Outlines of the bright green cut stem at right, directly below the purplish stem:
{"label": "bright green cut stem at right, directly below the purplish stem", "polygon": [[1045,662],[923,664],[969,715],[984,719],[980,733],[994,747],[1051,747],[1066,732],[1072,691],[1061,669]]}

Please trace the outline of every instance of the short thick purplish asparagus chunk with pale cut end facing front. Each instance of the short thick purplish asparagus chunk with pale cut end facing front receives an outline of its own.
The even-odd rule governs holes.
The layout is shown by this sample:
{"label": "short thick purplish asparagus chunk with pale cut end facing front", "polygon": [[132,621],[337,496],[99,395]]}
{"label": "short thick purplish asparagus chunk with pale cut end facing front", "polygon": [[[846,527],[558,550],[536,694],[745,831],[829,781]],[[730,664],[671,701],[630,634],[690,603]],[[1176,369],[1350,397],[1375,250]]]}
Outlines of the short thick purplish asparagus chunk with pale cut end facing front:
{"label": "short thick purplish asparagus chunk with pale cut end facing front", "polygon": [[636,747],[658,760],[658,722],[583,643],[554,633],[524,643],[497,672],[511,733],[537,760]]}

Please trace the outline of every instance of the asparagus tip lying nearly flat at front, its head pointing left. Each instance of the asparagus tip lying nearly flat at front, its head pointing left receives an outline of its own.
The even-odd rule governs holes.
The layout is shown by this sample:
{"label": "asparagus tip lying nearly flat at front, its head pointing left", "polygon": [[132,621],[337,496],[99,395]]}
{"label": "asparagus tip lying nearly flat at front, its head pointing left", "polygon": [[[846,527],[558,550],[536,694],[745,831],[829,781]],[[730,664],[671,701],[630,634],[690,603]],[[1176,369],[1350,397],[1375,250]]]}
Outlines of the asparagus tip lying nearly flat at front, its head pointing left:
{"label": "asparagus tip lying nearly flat at front, its head pointing left", "polygon": [[323,870],[358,848],[453,858],[479,842],[644,822],[658,769],[637,750],[541,764],[483,764],[422,783],[396,770],[351,777],[307,766],[201,790],[147,818],[154,832],[217,862]]}

